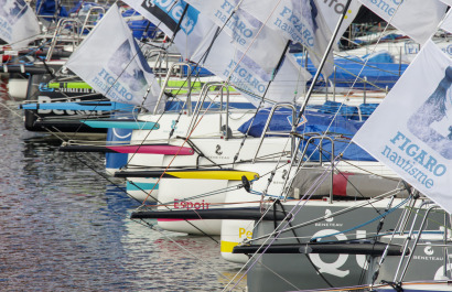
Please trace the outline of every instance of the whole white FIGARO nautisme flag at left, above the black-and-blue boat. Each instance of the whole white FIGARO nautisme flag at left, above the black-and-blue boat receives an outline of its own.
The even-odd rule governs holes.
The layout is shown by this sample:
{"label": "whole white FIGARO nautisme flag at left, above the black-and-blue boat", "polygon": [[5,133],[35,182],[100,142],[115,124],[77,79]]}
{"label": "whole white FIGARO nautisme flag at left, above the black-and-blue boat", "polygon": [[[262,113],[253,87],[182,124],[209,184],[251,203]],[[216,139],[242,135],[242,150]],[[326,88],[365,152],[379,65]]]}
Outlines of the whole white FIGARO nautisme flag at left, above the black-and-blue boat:
{"label": "whole white FIGARO nautisme flag at left, above the black-and-blue boat", "polygon": [[155,106],[160,86],[116,4],[71,55],[66,67],[114,101],[149,110]]}

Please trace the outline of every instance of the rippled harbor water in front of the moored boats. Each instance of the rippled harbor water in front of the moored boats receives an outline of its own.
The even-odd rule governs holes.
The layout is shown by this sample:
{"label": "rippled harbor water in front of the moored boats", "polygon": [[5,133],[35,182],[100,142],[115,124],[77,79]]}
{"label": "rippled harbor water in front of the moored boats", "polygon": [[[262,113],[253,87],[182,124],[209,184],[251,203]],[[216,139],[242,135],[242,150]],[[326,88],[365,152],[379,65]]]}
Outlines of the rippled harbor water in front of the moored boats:
{"label": "rippled harbor water in front of the moored boats", "polygon": [[1,90],[0,291],[222,291],[239,271],[218,237],[131,220],[139,205],[106,176],[104,154],[60,152]]}

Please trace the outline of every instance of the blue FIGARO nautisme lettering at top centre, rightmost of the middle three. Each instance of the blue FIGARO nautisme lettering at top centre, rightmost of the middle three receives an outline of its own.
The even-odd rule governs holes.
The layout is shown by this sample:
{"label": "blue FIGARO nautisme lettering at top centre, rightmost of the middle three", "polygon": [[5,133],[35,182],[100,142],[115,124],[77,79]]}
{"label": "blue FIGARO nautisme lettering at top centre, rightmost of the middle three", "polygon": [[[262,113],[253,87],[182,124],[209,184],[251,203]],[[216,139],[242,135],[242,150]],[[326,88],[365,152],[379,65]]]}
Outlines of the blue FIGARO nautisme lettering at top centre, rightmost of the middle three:
{"label": "blue FIGARO nautisme lettering at top centre, rightmost of the middle three", "polygon": [[290,8],[284,7],[279,13],[280,18],[277,18],[275,25],[280,30],[287,32],[293,42],[300,42],[310,47],[314,46],[314,33],[312,29],[308,28],[300,18],[298,18]]}

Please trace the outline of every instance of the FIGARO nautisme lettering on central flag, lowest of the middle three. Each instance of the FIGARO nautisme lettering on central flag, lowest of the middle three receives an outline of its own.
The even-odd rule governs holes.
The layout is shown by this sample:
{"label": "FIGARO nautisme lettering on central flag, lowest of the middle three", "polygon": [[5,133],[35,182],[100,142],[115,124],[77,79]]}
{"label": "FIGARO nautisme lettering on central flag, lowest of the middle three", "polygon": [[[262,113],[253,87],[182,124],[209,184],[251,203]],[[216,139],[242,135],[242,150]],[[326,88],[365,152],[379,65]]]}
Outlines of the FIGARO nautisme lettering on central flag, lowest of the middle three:
{"label": "FIGARO nautisme lettering on central flag, lowest of the middle three", "polygon": [[[230,75],[232,69],[237,74]],[[230,75],[229,80],[243,90],[256,93],[254,89],[257,89],[260,94],[263,94],[266,90],[266,85],[261,84],[261,82],[249,73],[247,68],[243,67],[240,64],[237,65],[237,62],[233,60],[229,63],[228,69],[225,69],[224,75]]]}

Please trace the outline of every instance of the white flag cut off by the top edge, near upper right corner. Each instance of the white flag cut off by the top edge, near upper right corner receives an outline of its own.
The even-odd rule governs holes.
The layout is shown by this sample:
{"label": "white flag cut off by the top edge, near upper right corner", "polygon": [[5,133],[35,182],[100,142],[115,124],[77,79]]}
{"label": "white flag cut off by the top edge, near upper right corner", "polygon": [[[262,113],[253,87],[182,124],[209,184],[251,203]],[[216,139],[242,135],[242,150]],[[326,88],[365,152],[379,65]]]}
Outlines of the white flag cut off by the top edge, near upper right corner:
{"label": "white flag cut off by the top edge, near upper right corner", "polygon": [[424,44],[437,32],[448,8],[439,0],[359,1],[420,44]]}

